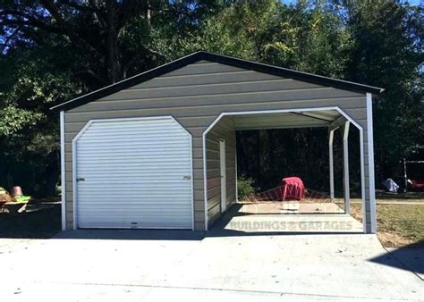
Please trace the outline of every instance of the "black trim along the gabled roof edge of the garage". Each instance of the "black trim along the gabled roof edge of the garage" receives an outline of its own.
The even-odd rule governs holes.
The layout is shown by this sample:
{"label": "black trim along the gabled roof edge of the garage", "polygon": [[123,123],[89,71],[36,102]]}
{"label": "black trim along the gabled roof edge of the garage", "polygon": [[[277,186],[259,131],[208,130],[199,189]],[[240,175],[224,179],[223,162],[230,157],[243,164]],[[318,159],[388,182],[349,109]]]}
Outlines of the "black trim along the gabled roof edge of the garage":
{"label": "black trim along the gabled roof edge of the garage", "polygon": [[273,65],[267,65],[264,63],[256,63],[252,61],[237,59],[231,56],[216,55],[216,54],[208,53],[205,51],[199,51],[191,55],[186,55],[170,63],[165,63],[164,65],[158,66],[157,68],[151,69],[149,71],[142,72],[126,80],[121,80],[112,85],[106,86],[105,88],[100,88],[88,94],[73,98],[72,100],[69,100],[62,104],[55,105],[51,107],[50,110],[53,110],[55,112],[70,110],[80,105],[84,105],[91,101],[97,100],[103,96],[109,96],[125,88],[130,88],[131,86],[135,86],[144,81],[157,78],[165,73],[180,69],[186,65],[189,65],[191,63],[196,63],[201,60],[206,60],[213,63],[222,63],[225,65],[230,65],[230,66],[242,68],[245,70],[258,71],[258,72],[276,75],[279,77],[289,78],[293,80],[307,81],[310,83],[319,84],[319,85],[323,85],[327,87],[340,88],[340,89],[351,90],[351,91],[360,92],[360,93],[379,94],[384,90],[383,88],[372,87],[372,86],[368,86],[364,84],[350,82],[347,80],[337,80],[337,79],[327,78],[327,77],[312,74],[312,73],[307,73],[302,71],[293,71],[291,69],[287,69],[283,67],[277,67]]}

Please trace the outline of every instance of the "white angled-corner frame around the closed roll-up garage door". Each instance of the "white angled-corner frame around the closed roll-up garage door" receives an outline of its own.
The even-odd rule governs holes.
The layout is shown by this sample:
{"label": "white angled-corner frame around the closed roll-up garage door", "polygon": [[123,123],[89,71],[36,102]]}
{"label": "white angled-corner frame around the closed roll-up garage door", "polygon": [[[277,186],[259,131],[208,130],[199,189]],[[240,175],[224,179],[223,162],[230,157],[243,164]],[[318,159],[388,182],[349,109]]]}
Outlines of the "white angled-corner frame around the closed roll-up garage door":
{"label": "white angled-corner frame around the closed roll-up garage door", "polygon": [[172,119],[178,126],[182,128],[189,136],[190,136],[190,157],[191,157],[191,230],[194,230],[194,192],[193,192],[193,147],[192,147],[192,135],[186,130],[180,122],[177,122],[172,115],[164,115],[164,116],[148,116],[148,117],[128,117],[128,118],[112,118],[112,119],[97,119],[97,120],[89,120],[85,124],[85,126],[77,133],[77,135],[72,139],[72,202],[73,202],[73,230],[78,229],[77,222],[77,142],[78,139],[81,138],[82,134],[86,130],[89,129],[89,126],[93,122],[126,122],[126,121],[148,121],[148,120],[158,120],[158,119]]}

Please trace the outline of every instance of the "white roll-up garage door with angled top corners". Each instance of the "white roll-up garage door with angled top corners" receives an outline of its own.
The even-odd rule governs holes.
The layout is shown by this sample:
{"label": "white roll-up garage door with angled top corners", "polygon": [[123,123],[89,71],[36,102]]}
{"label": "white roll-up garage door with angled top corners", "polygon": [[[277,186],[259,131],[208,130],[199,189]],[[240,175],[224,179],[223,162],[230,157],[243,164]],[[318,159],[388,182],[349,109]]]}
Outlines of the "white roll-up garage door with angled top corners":
{"label": "white roll-up garage door with angled top corners", "polygon": [[191,135],[174,118],[91,121],[72,147],[78,228],[192,229]]}

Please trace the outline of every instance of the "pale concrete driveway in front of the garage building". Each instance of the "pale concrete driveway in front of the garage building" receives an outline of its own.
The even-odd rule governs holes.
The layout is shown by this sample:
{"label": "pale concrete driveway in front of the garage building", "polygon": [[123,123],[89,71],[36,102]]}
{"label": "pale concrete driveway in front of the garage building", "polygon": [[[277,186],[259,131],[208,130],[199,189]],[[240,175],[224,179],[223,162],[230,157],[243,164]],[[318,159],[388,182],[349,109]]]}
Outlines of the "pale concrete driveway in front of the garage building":
{"label": "pale concrete driveway in front of the garage building", "polygon": [[[424,283],[376,236],[212,231],[71,231],[0,239],[12,300],[404,299]],[[372,259],[378,257],[378,263]],[[383,259],[383,261],[382,261]]]}

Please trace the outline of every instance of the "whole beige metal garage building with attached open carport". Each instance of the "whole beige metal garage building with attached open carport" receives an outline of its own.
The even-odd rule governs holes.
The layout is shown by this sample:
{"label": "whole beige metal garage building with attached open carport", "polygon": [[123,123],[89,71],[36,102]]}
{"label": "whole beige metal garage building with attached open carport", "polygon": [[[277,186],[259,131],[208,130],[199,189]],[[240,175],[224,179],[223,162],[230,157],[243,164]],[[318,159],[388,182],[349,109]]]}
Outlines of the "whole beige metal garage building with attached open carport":
{"label": "whole beige metal garage building with attached open carport", "polygon": [[55,106],[63,229],[208,230],[236,201],[235,131],[360,131],[364,231],[376,231],[372,94],[381,88],[198,52]]}

